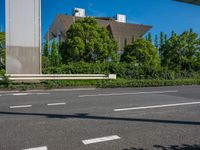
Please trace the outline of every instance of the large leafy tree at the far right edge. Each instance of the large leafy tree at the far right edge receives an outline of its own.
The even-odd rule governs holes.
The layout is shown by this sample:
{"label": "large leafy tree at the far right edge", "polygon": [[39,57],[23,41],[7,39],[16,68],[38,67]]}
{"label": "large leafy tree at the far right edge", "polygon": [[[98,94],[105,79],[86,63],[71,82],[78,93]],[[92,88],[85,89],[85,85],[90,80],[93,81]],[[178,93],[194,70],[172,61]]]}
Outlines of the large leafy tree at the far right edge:
{"label": "large leafy tree at the far right edge", "polygon": [[176,70],[198,70],[200,39],[192,30],[181,35],[172,32],[171,38],[162,47],[163,66]]}

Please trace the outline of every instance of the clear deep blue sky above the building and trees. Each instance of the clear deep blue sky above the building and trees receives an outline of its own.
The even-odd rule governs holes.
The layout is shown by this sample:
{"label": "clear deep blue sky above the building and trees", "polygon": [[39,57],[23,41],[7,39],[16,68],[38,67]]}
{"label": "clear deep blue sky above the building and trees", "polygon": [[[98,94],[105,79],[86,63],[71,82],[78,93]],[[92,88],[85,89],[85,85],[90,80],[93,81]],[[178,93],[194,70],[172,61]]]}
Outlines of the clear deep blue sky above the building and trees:
{"label": "clear deep blue sky above the building and trees", "polygon": [[[0,25],[5,28],[5,0],[0,0]],[[56,14],[71,15],[74,7],[85,8],[87,16],[127,15],[129,23],[151,25],[151,33],[172,30],[181,33],[189,28],[200,34],[200,7],[173,0],[42,0],[42,35]]]}

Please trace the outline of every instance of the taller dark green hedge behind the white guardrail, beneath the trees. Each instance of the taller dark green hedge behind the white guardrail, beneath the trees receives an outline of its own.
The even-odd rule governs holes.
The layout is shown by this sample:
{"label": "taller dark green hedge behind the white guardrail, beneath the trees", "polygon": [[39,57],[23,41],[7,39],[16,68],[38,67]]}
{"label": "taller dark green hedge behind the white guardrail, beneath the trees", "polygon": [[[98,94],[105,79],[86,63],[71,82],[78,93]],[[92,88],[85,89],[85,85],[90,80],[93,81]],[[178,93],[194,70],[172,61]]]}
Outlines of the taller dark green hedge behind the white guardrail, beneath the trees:
{"label": "taller dark green hedge behind the white guardrail, beneath the trees", "polygon": [[174,71],[163,67],[135,66],[127,63],[71,63],[61,67],[44,68],[45,74],[117,74],[124,79],[187,79],[199,78],[200,72]]}

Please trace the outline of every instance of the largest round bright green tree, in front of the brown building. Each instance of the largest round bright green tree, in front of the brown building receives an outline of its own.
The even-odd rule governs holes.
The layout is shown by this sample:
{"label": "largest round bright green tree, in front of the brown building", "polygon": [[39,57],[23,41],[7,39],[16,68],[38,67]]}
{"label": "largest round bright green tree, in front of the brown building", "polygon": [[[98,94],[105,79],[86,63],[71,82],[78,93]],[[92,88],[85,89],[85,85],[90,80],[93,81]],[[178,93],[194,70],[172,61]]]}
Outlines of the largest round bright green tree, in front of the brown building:
{"label": "largest round bright green tree, in front of the brown building", "polygon": [[64,63],[69,61],[95,62],[117,60],[117,44],[106,28],[97,24],[91,17],[75,21],[67,31],[62,44],[61,55]]}

